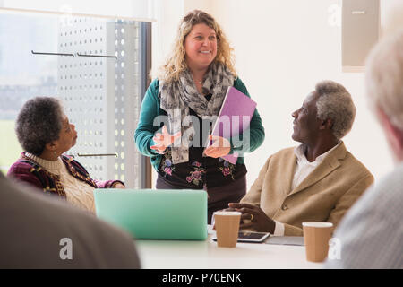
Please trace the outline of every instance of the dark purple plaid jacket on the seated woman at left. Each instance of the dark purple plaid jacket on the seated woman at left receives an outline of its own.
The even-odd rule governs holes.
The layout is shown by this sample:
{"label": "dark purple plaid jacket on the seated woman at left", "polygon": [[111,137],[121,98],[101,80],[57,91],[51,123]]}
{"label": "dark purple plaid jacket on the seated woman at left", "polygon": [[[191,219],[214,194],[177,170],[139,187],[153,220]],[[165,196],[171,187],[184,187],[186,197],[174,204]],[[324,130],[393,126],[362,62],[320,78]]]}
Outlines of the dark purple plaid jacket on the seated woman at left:
{"label": "dark purple plaid jacket on the seated woman at left", "polygon": [[[88,171],[78,161],[74,161],[72,157],[66,155],[61,155],[61,158],[72,177],[86,182],[91,187],[110,188],[116,182],[124,184],[120,180],[99,181],[92,179]],[[22,152],[21,158],[13,163],[7,172],[7,176],[27,182],[33,187],[38,187],[46,194],[66,198],[60,177],[43,169],[38,162],[25,156],[25,152]]]}

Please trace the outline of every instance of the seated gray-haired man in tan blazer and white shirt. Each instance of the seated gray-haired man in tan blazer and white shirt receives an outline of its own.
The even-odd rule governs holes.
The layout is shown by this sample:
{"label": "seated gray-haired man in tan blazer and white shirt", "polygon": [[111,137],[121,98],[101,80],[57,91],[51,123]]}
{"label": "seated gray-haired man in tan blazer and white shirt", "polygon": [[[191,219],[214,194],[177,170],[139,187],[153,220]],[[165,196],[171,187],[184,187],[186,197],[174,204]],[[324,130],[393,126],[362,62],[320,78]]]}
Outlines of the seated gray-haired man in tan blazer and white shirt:
{"label": "seated gray-haired man in tan blazer and white shirt", "polygon": [[322,81],[292,113],[296,148],[266,161],[239,204],[240,229],[302,236],[303,222],[332,222],[336,227],[373,175],[347,152],[341,138],[350,131],[356,108],[339,83]]}

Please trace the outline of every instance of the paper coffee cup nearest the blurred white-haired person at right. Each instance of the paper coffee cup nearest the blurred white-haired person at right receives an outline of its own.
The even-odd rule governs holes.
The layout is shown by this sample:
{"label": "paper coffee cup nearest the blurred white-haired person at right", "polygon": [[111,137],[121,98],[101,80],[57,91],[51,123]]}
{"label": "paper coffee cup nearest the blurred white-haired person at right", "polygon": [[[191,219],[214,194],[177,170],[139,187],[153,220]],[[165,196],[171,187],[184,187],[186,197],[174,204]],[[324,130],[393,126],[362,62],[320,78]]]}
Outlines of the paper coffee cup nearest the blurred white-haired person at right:
{"label": "paper coffee cup nearest the blurred white-haired person at right", "polygon": [[328,256],[331,222],[303,222],[306,260],[322,262]]}

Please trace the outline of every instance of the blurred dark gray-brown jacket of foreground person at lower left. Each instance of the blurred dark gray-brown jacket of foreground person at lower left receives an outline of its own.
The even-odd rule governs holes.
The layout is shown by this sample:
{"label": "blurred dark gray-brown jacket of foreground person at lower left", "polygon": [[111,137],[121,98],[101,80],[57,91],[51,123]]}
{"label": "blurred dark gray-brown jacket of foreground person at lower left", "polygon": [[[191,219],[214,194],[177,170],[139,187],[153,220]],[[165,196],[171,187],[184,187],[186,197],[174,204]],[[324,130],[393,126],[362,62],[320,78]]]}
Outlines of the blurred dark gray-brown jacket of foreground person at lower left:
{"label": "blurred dark gray-brown jacket of foreground person at lower left", "polygon": [[133,239],[0,172],[0,268],[139,268]]}

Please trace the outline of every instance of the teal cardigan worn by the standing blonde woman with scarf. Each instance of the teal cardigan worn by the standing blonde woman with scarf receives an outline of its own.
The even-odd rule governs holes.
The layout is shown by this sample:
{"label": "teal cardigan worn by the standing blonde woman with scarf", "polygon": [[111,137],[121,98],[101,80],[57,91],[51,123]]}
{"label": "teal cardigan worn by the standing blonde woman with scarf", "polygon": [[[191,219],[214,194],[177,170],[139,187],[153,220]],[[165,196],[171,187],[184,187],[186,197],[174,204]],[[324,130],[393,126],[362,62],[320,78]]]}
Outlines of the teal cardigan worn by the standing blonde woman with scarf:
{"label": "teal cardigan worn by the standing blonde woman with scarf", "polygon": [[[244,83],[239,78],[234,81],[234,88],[242,91],[248,97],[251,97],[244,86]],[[162,124],[157,121],[159,125],[154,126],[154,120],[161,115],[167,115],[167,113],[160,109],[159,94],[159,80],[156,79],[150,83],[150,87],[147,89],[144,99],[141,103],[141,111],[139,124],[134,132],[134,142],[138,150],[145,156],[150,156],[151,164],[155,170],[158,170],[159,163],[163,155],[151,150],[151,146],[154,145],[152,137],[161,128]],[[243,152],[253,152],[257,149],[264,140],[264,128],[262,126],[262,119],[257,109],[254,110],[251,125],[249,127],[250,141],[247,147],[237,147],[231,142],[231,152],[242,150]],[[242,135],[239,136],[242,139]],[[243,157],[238,157],[236,163],[244,163]]]}

